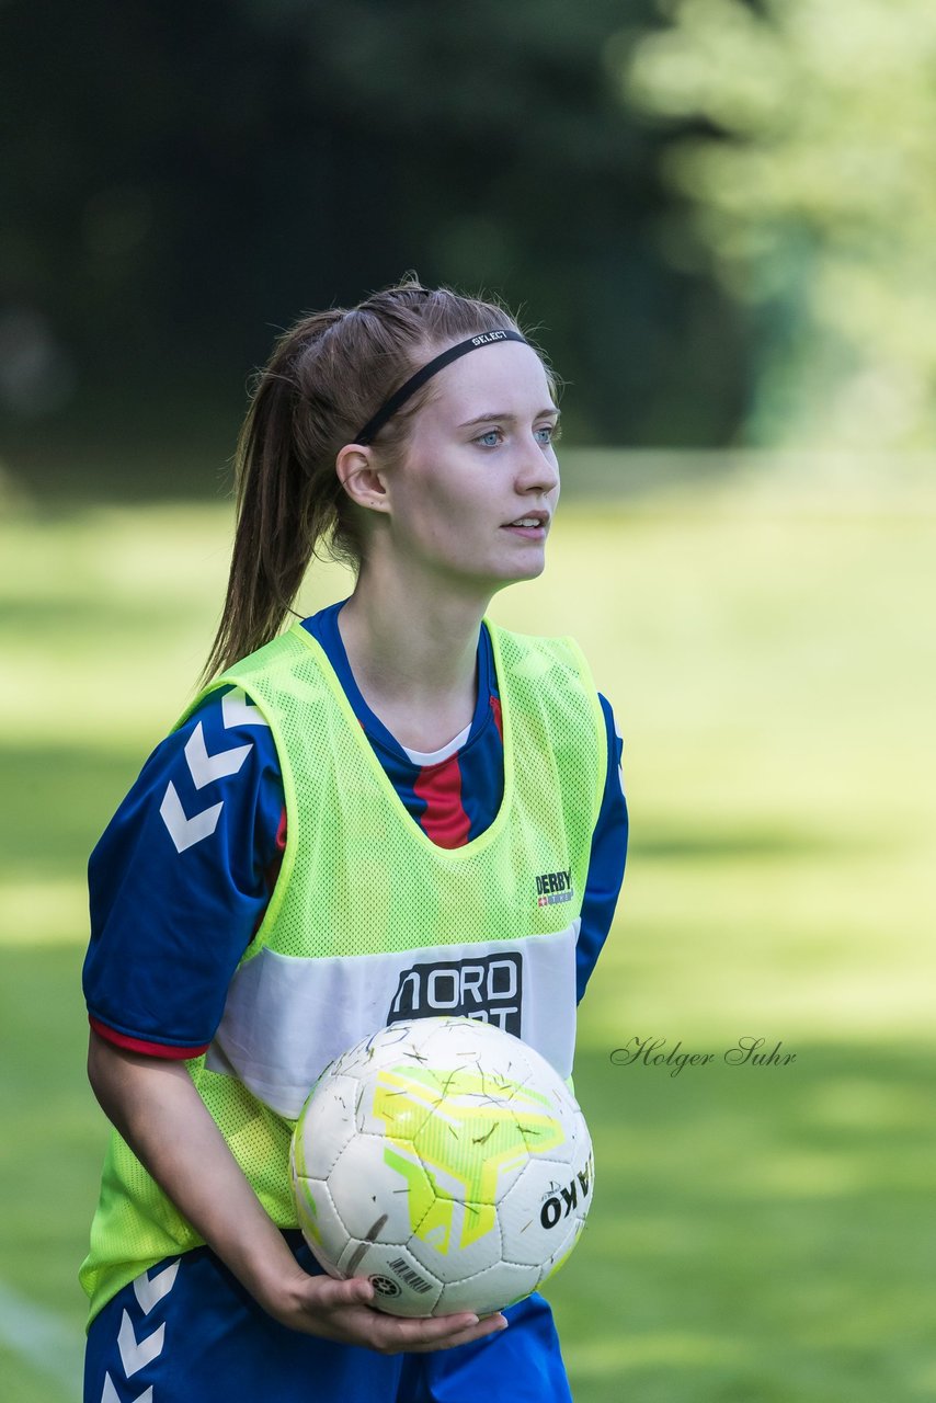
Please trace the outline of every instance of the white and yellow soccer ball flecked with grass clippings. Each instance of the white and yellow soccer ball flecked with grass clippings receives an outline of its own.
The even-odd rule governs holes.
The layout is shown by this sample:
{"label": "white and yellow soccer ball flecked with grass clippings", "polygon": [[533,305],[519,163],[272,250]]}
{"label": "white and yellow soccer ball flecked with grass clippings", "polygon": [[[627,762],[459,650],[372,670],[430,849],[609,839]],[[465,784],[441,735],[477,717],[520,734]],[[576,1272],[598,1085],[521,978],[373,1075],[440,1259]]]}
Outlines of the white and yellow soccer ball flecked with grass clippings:
{"label": "white and yellow soccer ball flecked with grass clippings", "polygon": [[575,1099],[473,1019],[394,1023],[331,1062],[296,1122],[299,1226],[333,1277],[401,1316],[488,1315],[573,1250],[592,1198]]}

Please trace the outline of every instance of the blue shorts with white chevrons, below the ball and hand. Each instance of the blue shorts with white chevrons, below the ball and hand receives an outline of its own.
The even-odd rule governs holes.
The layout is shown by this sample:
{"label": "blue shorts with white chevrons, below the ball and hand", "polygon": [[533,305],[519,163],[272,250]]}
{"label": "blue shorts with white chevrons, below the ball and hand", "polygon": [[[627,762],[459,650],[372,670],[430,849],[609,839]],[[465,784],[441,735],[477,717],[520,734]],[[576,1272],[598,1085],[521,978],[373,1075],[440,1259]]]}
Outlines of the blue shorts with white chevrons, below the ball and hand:
{"label": "blue shorts with white chevrons, below the ball and hand", "polygon": [[[286,1239],[319,1274],[299,1233]],[[504,1313],[509,1329],[491,1338],[386,1357],[286,1329],[199,1247],[153,1267],[94,1317],[84,1403],[571,1403],[547,1302],[532,1295]]]}

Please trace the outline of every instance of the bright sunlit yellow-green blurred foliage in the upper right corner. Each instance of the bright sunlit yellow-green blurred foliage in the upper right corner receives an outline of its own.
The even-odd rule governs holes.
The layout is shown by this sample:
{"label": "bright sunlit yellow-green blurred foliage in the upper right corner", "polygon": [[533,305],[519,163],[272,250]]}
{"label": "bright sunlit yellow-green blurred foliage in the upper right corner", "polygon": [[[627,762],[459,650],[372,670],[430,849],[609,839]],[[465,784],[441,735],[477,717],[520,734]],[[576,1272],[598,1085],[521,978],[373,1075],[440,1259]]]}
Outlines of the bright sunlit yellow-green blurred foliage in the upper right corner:
{"label": "bright sunlit yellow-green blurred foliage in the upper right corner", "polygon": [[[762,443],[932,446],[936,7],[932,0],[661,0],[622,58],[669,123],[662,166],[759,328]],[[697,265],[685,227],[669,253]]]}

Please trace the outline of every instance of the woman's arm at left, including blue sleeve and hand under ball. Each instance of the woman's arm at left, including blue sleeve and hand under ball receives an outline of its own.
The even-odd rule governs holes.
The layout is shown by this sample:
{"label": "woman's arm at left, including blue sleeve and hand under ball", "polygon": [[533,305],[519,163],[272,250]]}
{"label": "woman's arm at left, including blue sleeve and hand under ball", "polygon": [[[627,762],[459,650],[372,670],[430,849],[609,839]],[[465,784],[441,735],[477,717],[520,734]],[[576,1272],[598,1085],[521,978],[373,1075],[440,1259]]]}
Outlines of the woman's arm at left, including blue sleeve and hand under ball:
{"label": "woman's arm at left, including blue sleeve and hand under ball", "polygon": [[[240,763],[213,777],[202,751]],[[188,1073],[268,902],[282,803],[269,732],[229,724],[216,699],[150,758],[90,864],[91,1086],[156,1183],[283,1324],[383,1352],[491,1334],[500,1316],[403,1320],[369,1305],[363,1278],[303,1271]]]}

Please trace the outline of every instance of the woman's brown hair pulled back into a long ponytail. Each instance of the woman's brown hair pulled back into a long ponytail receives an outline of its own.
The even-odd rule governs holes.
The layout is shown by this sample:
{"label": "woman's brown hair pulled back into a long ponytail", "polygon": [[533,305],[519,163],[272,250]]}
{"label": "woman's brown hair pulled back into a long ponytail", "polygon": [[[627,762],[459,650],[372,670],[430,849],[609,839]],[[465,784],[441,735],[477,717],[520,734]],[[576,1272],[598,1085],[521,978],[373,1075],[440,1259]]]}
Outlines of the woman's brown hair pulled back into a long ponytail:
{"label": "woman's brown hair pulled back into a long ponytail", "polygon": [[[408,279],[351,311],[303,317],[260,372],[237,442],[237,529],[227,598],[202,679],[274,638],[319,546],[359,565],[362,539],[335,457],[370,415],[448,342],[518,330],[495,303]],[[376,439],[400,452],[418,391]]]}

